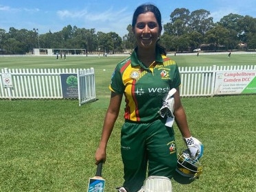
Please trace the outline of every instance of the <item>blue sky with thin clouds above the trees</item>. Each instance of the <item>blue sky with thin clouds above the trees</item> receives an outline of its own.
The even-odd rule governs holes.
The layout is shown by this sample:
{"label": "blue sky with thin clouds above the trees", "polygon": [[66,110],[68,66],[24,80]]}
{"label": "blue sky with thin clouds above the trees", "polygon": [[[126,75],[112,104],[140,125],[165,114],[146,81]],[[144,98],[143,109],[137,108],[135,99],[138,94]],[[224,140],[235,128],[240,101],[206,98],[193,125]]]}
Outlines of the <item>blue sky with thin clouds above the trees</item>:
{"label": "blue sky with thin clouds above the trees", "polygon": [[163,24],[170,21],[176,8],[190,12],[205,9],[217,22],[230,13],[256,17],[255,0],[0,0],[0,29],[38,29],[39,34],[59,32],[71,25],[96,32],[127,34],[132,14],[141,3],[154,3],[161,10]]}

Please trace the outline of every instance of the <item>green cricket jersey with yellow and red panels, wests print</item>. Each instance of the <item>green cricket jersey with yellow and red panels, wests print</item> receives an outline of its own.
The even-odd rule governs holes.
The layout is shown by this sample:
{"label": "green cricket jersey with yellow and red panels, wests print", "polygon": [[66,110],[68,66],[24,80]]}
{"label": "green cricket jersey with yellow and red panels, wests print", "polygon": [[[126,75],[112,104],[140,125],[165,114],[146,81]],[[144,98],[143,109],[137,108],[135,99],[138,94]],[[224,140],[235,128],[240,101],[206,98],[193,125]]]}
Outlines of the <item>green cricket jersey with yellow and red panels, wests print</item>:
{"label": "green cricket jersey with yellow and red panels, wests print", "polygon": [[119,62],[111,77],[110,90],[126,97],[124,118],[148,122],[159,118],[163,97],[181,84],[178,67],[156,49],[156,60],[146,68],[138,60],[136,49]]}

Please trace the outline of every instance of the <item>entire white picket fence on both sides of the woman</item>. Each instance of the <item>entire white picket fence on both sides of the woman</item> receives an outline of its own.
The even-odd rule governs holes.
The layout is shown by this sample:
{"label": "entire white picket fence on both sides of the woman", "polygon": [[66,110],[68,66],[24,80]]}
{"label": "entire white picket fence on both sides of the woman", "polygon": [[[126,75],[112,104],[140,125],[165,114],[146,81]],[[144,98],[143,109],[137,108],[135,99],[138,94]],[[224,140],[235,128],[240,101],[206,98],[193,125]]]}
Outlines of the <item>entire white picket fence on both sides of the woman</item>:
{"label": "entire white picket fence on both sides of the woman", "polygon": [[[254,70],[256,65],[180,67],[181,97],[214,96],[218,71]],[[1,69],[0,99],[62,99],[62,74],[78,77],[79,105],[96,100],[94,69]],[[10,85],[9,85],[10,84]]]}

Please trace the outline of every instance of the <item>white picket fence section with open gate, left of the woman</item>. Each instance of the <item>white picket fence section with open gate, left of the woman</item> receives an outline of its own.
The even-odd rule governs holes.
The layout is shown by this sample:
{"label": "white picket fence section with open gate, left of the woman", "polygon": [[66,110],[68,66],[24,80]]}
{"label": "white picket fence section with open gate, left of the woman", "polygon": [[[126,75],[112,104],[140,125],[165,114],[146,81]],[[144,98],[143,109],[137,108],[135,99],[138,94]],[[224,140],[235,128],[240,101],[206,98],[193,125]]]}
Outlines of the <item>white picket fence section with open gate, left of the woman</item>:
{"label": "white picket fence section with open gate, left of the woman", "polygon": [[0,99],[63,99],[62,74],[77,75],[79,104],[96,100],[94,69],[1,69]]}

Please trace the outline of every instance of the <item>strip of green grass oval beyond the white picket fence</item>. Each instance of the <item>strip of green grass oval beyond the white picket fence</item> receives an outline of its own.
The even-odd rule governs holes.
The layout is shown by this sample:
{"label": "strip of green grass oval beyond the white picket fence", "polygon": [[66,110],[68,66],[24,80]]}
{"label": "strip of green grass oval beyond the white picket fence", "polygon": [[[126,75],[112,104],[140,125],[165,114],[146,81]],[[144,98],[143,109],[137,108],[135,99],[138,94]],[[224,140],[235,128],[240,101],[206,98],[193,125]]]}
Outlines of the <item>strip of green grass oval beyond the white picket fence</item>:
{"label": "strip of green grass oval beyond the white picket fence", "polygon": [[[128,56],[128,55],[127,55]],[[233,54],[228,58],[226,54],[200,55],[200,56],[173,56],[179,67],[209,66],[209,65],[248,65],[256,64],[256,52],[251,54]],[[55,56],[24,56],[24,57],[0,57],[0,67],[8,68],[84,68],[84,67],[111,67],[126,56],[67,56],[67,60],[56,60]]]}

